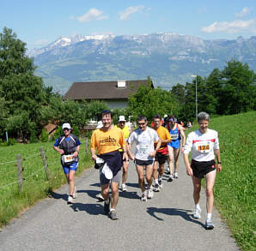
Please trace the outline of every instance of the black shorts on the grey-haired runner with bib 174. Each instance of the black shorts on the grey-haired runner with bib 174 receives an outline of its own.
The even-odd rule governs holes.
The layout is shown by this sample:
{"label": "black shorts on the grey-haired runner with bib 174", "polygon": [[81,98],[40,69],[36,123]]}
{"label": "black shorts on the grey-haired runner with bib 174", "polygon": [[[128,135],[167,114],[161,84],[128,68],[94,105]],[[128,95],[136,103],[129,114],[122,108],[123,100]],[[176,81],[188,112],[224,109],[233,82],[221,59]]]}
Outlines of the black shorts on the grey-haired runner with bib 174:
{"label": "black shorts on the grey-haired runner with bib 174", "polygon": [[193,170],[193,176],[201,179],[210,171],[216,170],[216,163],[214,159],[210,161],[196,161],[192,159],[191,167]]}

